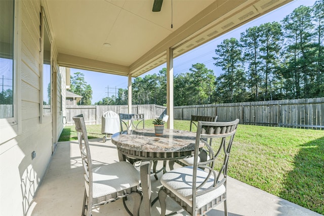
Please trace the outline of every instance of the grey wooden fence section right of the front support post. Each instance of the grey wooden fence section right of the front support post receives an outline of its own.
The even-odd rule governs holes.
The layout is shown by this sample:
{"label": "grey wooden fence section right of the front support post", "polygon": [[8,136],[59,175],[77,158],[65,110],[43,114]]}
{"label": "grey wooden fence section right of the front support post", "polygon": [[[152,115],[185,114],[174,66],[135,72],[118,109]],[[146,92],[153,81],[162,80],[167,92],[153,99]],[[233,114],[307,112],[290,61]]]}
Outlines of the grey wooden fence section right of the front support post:
{"label": "grey wooden fence section right of the front support post", "polygon": [[324,97],[174,107],[174,118],[217,115],[217,121],[239,119],[240,124],[324,128]]}

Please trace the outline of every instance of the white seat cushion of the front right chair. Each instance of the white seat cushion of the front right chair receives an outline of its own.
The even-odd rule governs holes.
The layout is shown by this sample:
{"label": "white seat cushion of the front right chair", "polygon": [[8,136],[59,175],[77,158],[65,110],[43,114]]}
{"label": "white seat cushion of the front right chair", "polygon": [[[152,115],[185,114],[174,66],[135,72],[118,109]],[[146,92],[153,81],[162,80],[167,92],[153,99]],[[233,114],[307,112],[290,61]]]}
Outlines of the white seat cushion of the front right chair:
{"label": "white seat cushion of the front right chair", "polygon": [[[161,177],[161,184],[169,189],[172,193],[178,196],[181,200],[192,206],[192,180],[193,180],[193,167],[184,166],[165,173]],[[196,186],[204,181],[208,173],[202,169],[197,170]],[[198,190],[204,190],[214,184],[214,177],[211,176],[208,182]],[[221,185],[216,190],[210,191],[203,195],[196,197],[196,208],[206,205],[217,197],[226,192],[225,186]]]}

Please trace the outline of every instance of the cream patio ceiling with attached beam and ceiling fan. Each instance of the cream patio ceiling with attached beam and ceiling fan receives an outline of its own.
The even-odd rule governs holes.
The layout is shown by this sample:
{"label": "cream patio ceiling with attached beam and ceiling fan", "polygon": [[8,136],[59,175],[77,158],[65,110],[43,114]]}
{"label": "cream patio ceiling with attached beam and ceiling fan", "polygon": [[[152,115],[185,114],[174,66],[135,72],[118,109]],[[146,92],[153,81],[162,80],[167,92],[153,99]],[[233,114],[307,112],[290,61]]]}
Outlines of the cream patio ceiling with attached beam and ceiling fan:
{"label": "cream patio ceiling with attached beam and ceiling fan", "polygon": [[61,66],[137,77],[292,0],[44,1]]}

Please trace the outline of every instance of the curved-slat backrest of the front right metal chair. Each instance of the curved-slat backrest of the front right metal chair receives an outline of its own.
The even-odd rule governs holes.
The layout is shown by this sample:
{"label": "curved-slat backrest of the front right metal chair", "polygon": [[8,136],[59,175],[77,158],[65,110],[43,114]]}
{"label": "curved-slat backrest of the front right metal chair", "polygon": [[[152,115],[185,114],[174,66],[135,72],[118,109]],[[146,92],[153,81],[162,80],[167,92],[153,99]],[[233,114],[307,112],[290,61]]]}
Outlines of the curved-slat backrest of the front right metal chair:
{"label": "curved-slat backrest of the front right metal chair", "polygon": [[[193,203],[196,201],[196,196],[215,190],[220,185],[226,187],[228,158],[238,122],[238,119],[231,122],[198,121],[194,150],[193,179],[196,179],[198,168],[208,172],[208,175],[200,185],[196,185],[196,181],[193,182]],[[206,139],[213,139],[213,142],[210,144]],[[199,145],[201,145],[201,142],[204,142],[204,148],[208,148],[209,160],[198,162]],[[219,166],[219,169],[215,170],[215,166]],[[214,178],[212,183],[210,182],[211,177]]]}

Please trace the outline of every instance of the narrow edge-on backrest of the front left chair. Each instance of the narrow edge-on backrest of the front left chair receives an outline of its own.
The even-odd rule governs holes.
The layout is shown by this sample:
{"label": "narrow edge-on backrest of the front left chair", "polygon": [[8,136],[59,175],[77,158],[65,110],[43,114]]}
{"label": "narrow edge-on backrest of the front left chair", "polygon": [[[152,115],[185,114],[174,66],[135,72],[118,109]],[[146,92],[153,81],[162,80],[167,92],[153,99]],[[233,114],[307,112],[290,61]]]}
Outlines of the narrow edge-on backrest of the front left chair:
{"label": "narrow edge-on backrest of the front left chair", "polygon": [[75,130],[77,132],[77,140],[78,140],[78,145],[81,153],[82,166],[84,168],[84,178],[85,178],[87,196],[89,198],[92,198],[92,193],[93,193],[92,161],[91,161],[89,140],[88,140],[85,120],[82,114],[74,116],[72,119],[75,123]]}

